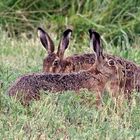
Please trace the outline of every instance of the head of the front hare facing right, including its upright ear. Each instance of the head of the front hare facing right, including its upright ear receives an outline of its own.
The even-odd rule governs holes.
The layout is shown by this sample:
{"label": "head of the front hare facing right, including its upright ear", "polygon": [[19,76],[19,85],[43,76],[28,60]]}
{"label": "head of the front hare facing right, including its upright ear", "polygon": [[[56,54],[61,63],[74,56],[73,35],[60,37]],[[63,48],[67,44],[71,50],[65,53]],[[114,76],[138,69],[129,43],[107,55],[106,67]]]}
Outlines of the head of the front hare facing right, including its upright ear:
{"label": "head of the front hare facing right, including its upright ear", "polygon": [[96,70],[103,74],[104,76],[113,78],[118,72],[121,71],[122,66],[113,58],[106,57],[103,55],[101,48],[101,37],[99,33],[90,29],[90,47],[93,48],[96,56],[95,68]]}

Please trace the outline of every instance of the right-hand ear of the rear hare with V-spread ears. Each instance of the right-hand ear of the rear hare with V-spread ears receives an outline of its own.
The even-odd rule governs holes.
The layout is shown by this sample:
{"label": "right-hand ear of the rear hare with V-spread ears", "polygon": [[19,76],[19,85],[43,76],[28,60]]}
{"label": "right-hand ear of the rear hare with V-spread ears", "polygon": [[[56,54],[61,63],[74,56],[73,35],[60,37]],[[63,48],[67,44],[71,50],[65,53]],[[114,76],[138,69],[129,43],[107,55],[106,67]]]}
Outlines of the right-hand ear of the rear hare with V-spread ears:
{"label": "right-hand ear of the rear hare with V-spread ears", "polygon": [[68,48],[71,33],[72,33],[71,29],[67,29],[63,32],[63,36],[60,40],[58,51],[57,51],[57,56],[61,59],[64,56],[65,50]]}

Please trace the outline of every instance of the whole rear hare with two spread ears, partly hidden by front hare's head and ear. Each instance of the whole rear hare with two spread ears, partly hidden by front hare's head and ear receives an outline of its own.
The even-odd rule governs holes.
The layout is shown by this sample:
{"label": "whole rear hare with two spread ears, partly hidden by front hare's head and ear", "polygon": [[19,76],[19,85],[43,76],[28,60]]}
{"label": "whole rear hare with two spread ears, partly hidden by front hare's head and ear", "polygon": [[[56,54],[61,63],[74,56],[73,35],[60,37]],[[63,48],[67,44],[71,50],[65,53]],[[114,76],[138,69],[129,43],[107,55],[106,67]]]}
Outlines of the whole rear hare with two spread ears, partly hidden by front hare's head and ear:
{"label": "whole rear hare with two spread ears, partly hidden by front hare's head and ear", "polygon": [[[38,28],[40,41],[48,51],[48,56],[43,61],[44,72],[78,72],[80,70],[89,69],[95,63],[95,55],[93,53],[72,55],[64,58],[64,52],[68,48],[71,32],[71,29],[67,29],[66,31],[64,31],[62,39],[59,43],[57,53],[54,53],[54,43],[51,40],[50,36],[42,28]],[[137,69],[136,64],[121,57],[113,56],[110,54],[104,55],[108,59],[115,59],[124,67],[124,79],[122,81],[113,81],[110,84],[110,90],[113,91],[114,88],[117,88],[124,93],[131,93],[134,89],[134,73]]]}

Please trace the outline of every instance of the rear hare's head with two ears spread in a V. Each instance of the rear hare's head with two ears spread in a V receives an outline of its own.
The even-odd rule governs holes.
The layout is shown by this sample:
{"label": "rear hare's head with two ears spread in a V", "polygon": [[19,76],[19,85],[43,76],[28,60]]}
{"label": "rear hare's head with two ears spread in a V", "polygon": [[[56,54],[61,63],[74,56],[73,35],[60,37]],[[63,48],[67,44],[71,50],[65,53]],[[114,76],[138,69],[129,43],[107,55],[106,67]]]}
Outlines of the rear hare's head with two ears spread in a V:
{"label": "rear hare's head with two ears spread in a V", "polygon": [[63,60],[63,57],[65,50],[68,48],[71,33],[71,29],[67,29],[63,32],[62,38],[58,46],[58,50],[57,52],[55,52],[54,43],[48,33],[45,32],[42,28],[38,28],[38,35],[40,41],[48,52],[47,57],[43,61],[44,72],[56,73],[60,72],[62,67],[64,67],[63,65],[65,64],[65,62]]}

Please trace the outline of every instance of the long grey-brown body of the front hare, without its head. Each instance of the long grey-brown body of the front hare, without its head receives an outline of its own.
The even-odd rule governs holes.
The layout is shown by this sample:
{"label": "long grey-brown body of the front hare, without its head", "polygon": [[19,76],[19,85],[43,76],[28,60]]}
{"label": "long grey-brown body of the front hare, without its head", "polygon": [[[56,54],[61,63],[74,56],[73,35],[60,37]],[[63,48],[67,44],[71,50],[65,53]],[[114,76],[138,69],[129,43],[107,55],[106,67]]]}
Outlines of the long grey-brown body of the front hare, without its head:
{"label": "long grey-brown body of the front hare, without its head", "polygon": [[17,79],[10,87],[8,94],[17,97],[23,104],[29,104],[32,99],[39,99],[41,91],[62,92],[67,90],[79,91],[87,89],[102,93],[110,77],[100,73],[94,74],[94,71],[81,71],[70,74],[45,74],[35,73],[25,75]]}

